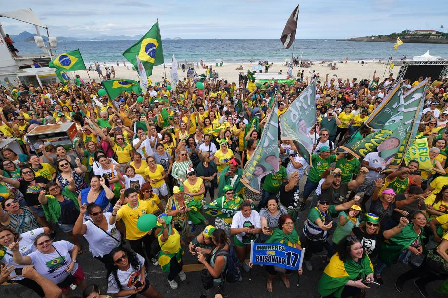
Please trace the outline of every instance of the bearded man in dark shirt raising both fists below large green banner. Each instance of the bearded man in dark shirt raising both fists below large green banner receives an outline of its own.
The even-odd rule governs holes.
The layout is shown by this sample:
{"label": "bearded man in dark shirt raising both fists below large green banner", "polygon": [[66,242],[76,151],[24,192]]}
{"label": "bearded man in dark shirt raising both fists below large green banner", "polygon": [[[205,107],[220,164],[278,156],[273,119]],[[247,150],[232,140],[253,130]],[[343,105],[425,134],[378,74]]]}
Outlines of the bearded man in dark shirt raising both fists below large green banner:
{"label": "bearded man in dark shirt raising both fists below large green banner", "polygon": [[330,171],[330,174],[327,175],[325,181],[322,183],[322,195],[328,198],[328,200],[334,205],[342,204],[346,201],[348,192],[364,182],[368,172],[369,170],[366,167],[362,167],[359,171],[359,175],[356,177],[356,180],[348,183],[341,183],[342,170],[336,168],[333,171]]}

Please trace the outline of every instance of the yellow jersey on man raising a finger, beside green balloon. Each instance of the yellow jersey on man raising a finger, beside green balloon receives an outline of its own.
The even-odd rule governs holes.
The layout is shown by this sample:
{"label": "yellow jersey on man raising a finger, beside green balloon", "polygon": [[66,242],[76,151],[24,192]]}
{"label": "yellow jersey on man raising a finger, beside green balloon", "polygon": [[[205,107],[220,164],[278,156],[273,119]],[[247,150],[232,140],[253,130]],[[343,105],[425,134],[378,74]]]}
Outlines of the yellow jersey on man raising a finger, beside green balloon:
{"label": "yellow jersey on man raising a finger, beside green balloon", "polygon": [[148,234],[148,232],[142,232],[137,228],[137,220],[140,216],[152,213],[151,210],[152,208],[149,208],[149,203],[147,201],[140,200],[135,209],[129,206],[129,204],[126,204],[118,210],[117,214],[126,226],[126,239],[137,240]]}

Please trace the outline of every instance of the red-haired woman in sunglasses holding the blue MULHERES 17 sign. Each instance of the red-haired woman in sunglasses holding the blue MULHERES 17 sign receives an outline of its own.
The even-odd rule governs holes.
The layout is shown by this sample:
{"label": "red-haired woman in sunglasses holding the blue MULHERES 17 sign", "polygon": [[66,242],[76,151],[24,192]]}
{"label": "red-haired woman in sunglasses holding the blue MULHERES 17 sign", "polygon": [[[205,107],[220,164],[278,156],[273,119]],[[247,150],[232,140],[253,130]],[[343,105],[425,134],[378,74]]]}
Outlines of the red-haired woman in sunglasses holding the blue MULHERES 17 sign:
{"label": "red-haired woman in sunglasses holding the blue MULHERES 17 sign", "polygon": [[[265,243],[276,243],[276,242],[280,242],[297,249],[302,249],[299,240],[299,235],[297,234],[296,229],[294,228],[294,221],[291,215],[283,214],[279,217],[279,227],[274,229],[271,237],[269,237],[269,239],[266,240]],[[252,266],[252,264],[249,265]],[[272,293],[272,281],[279,272],[281,280],[283,280],[285,287],[289,288],[290,283],[288,280],[288,275],[292,272],[292,270],[287,270],[272,265],[266,265],[265,267],[267,271],[266,287],[269,293]],[[299,275],[302,275],[303,269],[300,268],[297,272],[299,273]]]}

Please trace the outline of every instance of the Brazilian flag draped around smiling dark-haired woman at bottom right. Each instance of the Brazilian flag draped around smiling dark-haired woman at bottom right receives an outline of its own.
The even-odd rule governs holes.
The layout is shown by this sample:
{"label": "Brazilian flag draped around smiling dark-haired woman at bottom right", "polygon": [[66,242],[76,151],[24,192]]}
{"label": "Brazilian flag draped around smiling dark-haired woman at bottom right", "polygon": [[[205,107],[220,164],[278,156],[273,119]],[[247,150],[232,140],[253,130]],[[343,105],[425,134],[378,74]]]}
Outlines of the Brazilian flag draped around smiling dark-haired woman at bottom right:
{"label": "Brazilian flag draped around smiling dark-haired woman at bottom right", "polygon": [[373,266],[367,255],[363,256],[360,261],[360,263],[356,263],[350,257],[342,261],[339,254],[333,255],[317,285],[319,294],[322,296],[333,294],[340,298],[347,281],[361,278],[364,280],[368,274],[373,273]]}

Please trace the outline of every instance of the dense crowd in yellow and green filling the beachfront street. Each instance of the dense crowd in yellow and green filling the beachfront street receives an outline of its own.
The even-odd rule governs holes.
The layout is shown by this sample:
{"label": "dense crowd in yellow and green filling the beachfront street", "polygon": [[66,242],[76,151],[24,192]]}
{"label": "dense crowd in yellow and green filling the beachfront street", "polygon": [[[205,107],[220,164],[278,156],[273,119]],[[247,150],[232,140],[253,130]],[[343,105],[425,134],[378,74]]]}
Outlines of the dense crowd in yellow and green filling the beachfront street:
{"label": "dense crowd in yellow and green filling the beachfront street", "polygon": [[[405,80],[403,91],[422,80]],[[268,292],[277,275],[289,288],[291,275],[319,270],[312,259],[327,251],[314,285],[322,297],[361,297],[374,291],[373,283],[393,282],[382,273],[398,262],[409,266],[396,280],[398,292],[414,279],[423,297],[435,280],[445,280],[440,291],[447,293],[447,79],[428,78],[417,136],[428,140],[432,168],[412,160],[388,175],[377,152],[360,159],[335,152],[370,133],[362,124],[396,84],[393,76],[318,79],[313,154],[307,161],[297,142],[278,140],[279,170],[262,179],[261,194],[243,184],[243,168],[271,101],[278,100],[283,114],[308,79],[196,83],[193,76],[177,84],[164,80],[144,94],[116,98],[99,96],[95,80],[1,86],[0,140],[15,138],[23,152],[1,150],[2,283],[40,297],[70,297],[76,287],[83,297],[100,297],[76,261],[87,242],[92,258],[104,264],[108,294],[163,297],[148,267],[160,266],[167,284],[178,289],[187,279],[187,253],[204,264],[201,280],[214,297],[255,266],[246,262],[255,241],[305,248],[306,270],[264,266]],[[74,146],[27,140],[38,125],[66,122],[76,125]],[[306,181],[303,193],[300,180]],[[210,208],[225,212],[216,216]],[[156,222],[140,224],[146,214]],[[56,241],[62,234],[70,241]]]}

